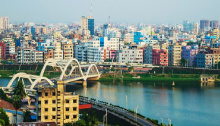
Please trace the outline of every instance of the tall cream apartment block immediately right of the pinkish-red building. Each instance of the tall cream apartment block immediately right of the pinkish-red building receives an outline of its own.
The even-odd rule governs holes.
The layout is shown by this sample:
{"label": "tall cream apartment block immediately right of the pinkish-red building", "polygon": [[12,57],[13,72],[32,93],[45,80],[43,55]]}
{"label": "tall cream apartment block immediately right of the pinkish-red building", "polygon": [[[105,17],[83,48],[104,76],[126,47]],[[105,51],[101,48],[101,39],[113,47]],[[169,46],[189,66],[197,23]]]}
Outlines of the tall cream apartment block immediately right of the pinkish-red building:
{"label": "tall cream apartment block immediately right of the pinkish-red building", "polygon": [[182,45],[178,43],[174,43],[173,45],[169,45],[169,66],[180,66],[181,65],[181,52]]}

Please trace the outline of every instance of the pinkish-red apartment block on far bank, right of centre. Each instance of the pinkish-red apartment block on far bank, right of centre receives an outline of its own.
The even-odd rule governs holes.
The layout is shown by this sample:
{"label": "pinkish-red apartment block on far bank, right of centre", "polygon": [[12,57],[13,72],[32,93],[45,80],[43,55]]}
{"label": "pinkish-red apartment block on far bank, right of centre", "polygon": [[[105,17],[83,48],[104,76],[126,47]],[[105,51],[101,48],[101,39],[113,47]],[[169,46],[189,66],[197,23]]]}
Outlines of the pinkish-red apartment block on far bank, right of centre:
{"label": "pinkish-red apartment block on far bank, right of centre", "polygon": [[163,49],[153,49],[152,64],[160,66],[168,66],[168,53]]}

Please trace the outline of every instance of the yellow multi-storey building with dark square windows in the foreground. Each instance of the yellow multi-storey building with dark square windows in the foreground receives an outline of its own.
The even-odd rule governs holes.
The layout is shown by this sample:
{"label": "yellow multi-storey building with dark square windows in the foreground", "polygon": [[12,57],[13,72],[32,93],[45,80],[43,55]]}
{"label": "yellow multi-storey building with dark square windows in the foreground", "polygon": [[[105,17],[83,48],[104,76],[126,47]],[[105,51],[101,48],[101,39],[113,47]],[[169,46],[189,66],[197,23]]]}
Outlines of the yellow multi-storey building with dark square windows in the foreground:
{"label": "yellow multi-storey building with dark square windows in the foreground", "polygon": [[79,96],[71,95],[64,89],[64,82],[58,81],[54,87],[38,90],[38,121],[56,122],[58,126],[78,121]]}

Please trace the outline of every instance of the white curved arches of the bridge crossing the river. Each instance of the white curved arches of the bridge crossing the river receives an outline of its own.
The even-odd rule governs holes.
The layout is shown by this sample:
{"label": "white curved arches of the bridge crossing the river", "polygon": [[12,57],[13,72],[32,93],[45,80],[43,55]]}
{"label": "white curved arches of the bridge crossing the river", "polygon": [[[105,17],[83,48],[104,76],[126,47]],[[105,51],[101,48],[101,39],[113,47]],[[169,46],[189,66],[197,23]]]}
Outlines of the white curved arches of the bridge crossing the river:
{"label": "white curved arches of the bridge crossing the river", "polygon": [[[94,78],[94,77],[99,78],[100,77],[100,73],[99,73],[99,71],[98,71],[95,64],[91,64],[89,66],[88,65],[81,66],[79,64],[78,60],[75,59],[75,58],[70,58],[70,59],[48,59],[45,62],[44,66],[41,70],[40,76],[26,74],[26,73],[17,73],[9,81],[9,83],[7,85],[7,88],[10,88],[12,86],[13,82],[17,78],[19,78],[19,79],[20,78],[27,78],[31,83],[30,89],[33,89],[34,86],[36,84],[42,82],[42,80],[46,81],[46,83],[49,83],[50,85],[54,85],[54,83],[50,79],[43,76],[47,66],[60,68],[61,75],[59,76],[58,80],[64,81],[65,83],[72,82],[72,81],[77,81],[77,80],[86,81],[88,78]],[[66,72],[68,72],[68,67],[69,66],[71,66],[71,70],[69,71],[68,74],[66,74]],[[88,67],[88,70],[85,74],[82,71],[82,67]],[[78,70],[80,76],[74,76],[73,78],[71,78],[71,75],[74,72],[74,70]],[[65,77],[69,77],[69,78],[65,78]]]}

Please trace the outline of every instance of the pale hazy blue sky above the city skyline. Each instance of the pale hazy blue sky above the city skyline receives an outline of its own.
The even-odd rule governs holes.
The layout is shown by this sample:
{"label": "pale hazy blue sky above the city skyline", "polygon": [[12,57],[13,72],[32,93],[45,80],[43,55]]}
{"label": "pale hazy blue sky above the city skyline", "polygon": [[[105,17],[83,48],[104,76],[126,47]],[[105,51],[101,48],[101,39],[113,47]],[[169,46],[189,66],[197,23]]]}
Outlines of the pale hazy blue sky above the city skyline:
{"label": "pale hazy blue sky above the city skyline", "polygon": [[[179,24],[220,20],[220,0],[92,0],[96,23]],[[91,0],[0,0],[10,22],[72,23],[89,16]]]}

